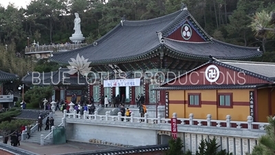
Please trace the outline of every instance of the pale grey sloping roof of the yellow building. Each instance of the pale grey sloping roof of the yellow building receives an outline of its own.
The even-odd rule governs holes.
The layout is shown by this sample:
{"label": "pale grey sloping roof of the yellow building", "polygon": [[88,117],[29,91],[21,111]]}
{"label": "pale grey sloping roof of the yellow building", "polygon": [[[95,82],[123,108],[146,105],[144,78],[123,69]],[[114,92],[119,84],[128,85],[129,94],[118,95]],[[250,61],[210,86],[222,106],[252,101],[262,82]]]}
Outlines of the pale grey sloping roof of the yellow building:
{"label": "pale grey sloping roof of the yellow building", "polygon": [[[239,72],[247,72],[251,76],[260,77],[267,81],[275,81],[275,63],[263,63],[252,61],[225,61],[217,60],[213,61],[217,65],[224,66]],[[262,77],[261,77],[262,76]]]}

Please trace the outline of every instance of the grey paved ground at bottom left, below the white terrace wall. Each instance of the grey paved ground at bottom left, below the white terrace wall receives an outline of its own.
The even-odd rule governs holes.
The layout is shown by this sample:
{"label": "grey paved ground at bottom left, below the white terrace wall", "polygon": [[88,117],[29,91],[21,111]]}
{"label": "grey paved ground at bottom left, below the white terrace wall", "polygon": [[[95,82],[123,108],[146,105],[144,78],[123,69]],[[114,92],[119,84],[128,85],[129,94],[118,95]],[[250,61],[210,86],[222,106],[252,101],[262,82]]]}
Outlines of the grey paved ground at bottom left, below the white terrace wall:
{"label": "grey paved ground at bottom left, below the white terrace wall", "polygon": [[113,149],[117,147],[106,146],[106,145],[94,145],[89,143],[78,143],[78,142],[68,142],[61,145],[38,145],[33,143],[21,143],[17,146],[21,149],[34,152],[41,155],[54,155],[54,154],[67,154],[76,152],[87,152],[103,149]]}

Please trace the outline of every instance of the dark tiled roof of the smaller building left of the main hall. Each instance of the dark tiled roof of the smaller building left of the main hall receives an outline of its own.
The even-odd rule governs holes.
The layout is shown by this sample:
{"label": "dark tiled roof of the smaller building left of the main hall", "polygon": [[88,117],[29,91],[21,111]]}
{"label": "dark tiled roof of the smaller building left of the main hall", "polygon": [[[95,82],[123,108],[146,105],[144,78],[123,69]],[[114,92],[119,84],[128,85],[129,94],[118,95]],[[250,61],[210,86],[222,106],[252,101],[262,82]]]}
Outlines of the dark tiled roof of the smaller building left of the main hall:
{"label": "dark tiled roof of the smaller building left of the main hall", "polygon": [[[23,83],[36,84],[36,85],[87,85],[87,80],[83,76],[75,77],[70,76],[68,73],[69,69],[61,68],[54,72],[28,72],[23,78]],[[63,76],[64,79],[63,79]]]}

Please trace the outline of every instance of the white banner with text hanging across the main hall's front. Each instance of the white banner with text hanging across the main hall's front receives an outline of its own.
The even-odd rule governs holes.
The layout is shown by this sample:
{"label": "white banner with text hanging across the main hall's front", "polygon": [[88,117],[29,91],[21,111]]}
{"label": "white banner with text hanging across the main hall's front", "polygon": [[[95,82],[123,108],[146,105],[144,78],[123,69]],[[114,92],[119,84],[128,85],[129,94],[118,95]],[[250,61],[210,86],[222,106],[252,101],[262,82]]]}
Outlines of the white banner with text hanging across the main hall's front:
{"label": "white banner with text hanging across the main hall's front", "polygon": [[103,87],[140,86],[140,79],[104,80]]}

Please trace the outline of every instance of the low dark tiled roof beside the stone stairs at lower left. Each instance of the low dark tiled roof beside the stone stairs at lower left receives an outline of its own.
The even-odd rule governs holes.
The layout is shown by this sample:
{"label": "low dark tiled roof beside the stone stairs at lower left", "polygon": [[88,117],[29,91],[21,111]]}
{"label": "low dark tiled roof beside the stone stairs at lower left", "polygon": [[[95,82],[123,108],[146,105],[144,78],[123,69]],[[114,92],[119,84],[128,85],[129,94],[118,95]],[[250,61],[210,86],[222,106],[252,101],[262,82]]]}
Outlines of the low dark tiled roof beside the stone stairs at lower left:
{"label": "low dark tiled roof beside the stone stairs at lower left", "polygon": [[[28,104],[27,104],[27,107],[28,107]],[[50,112],[45,110],[21,110],[21,114],[19,114],[18,116],[15,116],[14,118],[37,121],[39,116],[41,116],[43,119],[49,114]]]}

